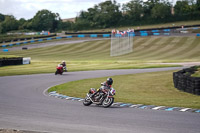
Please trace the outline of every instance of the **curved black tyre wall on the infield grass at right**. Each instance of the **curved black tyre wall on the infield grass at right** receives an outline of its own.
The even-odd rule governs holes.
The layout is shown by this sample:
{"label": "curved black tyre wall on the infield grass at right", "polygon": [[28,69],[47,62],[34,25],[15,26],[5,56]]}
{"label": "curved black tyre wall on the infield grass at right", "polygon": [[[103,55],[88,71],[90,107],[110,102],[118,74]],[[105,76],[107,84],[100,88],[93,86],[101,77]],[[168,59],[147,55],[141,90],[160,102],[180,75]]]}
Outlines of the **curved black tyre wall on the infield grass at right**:
{"label": "curved black tyre wall on the infield grass at right", "polygon": [[200,77],[191,77],[197,68],[193,66],[173,73],[174,87],[178,90],[200,95]]}

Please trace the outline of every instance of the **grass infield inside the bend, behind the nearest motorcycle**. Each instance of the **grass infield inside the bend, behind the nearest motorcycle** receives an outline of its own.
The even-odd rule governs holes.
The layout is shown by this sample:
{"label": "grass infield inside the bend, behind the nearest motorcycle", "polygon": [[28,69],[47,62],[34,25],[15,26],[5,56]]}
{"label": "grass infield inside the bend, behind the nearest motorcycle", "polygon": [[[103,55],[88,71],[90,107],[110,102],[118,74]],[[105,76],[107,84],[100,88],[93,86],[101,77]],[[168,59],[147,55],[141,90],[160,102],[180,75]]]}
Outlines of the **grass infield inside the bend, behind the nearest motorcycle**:
{"label": "grass infield inside the bend, behind the nearest motorcycle", "polygon": [[[153,72],[132,75],[112,76],[116,89],[115,102],[187,107],[200,109],[200,97],[177,90],[173,86],[172,73]],[[54,86],[48,90],[84,98],[90,88],[99,88],[107,77],[85,79]]]}

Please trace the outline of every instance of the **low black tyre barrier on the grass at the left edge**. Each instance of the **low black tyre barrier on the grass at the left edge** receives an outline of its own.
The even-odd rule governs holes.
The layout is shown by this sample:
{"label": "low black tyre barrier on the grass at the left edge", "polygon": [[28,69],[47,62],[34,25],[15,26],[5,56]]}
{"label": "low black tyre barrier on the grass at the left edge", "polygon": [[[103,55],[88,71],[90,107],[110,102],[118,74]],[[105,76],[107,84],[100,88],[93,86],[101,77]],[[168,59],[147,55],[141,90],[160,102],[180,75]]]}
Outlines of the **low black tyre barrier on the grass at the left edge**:
{"label": "low black tyre barrier on the grass at the left edge", "polygon": [[0,58],[0,67],[8,65],[22,65],[23,57]]}

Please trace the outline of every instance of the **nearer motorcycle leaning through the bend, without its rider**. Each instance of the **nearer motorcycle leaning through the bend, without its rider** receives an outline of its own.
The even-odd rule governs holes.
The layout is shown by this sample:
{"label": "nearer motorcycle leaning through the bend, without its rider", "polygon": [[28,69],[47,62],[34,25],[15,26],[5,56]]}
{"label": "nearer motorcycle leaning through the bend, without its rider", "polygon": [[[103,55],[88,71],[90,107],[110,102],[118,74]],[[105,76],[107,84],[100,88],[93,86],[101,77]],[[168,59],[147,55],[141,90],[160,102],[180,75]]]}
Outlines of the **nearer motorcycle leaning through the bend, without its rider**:
{"label": "nearer motorcycle leaning through the bend, without its rider", "polygon": [[83,105],[89,106],[92,103],[96,105],[102,105],[104,108],[110,107],[114,102],[115,89],[102,89],[96,90],[95,88],[91,88],[87,96],[83,101]]}

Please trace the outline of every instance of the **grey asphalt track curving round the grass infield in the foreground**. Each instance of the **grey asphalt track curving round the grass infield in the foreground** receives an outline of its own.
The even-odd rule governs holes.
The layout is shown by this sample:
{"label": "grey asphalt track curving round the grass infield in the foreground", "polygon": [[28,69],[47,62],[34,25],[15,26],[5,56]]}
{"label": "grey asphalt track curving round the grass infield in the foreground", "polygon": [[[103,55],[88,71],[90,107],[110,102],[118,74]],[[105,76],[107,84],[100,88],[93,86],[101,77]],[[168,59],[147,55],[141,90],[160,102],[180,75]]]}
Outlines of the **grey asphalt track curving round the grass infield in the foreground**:
{"label": "grey asphalt track curving round the grass infield in the foreground", "polygon": [[[96,105],[45,95],[48,87],[95,77],[176,70],[154,68],[0,77],[0,129],[52,133],[198,133],[200,114]],[[89,88],[88,88],[89,89]]]}

